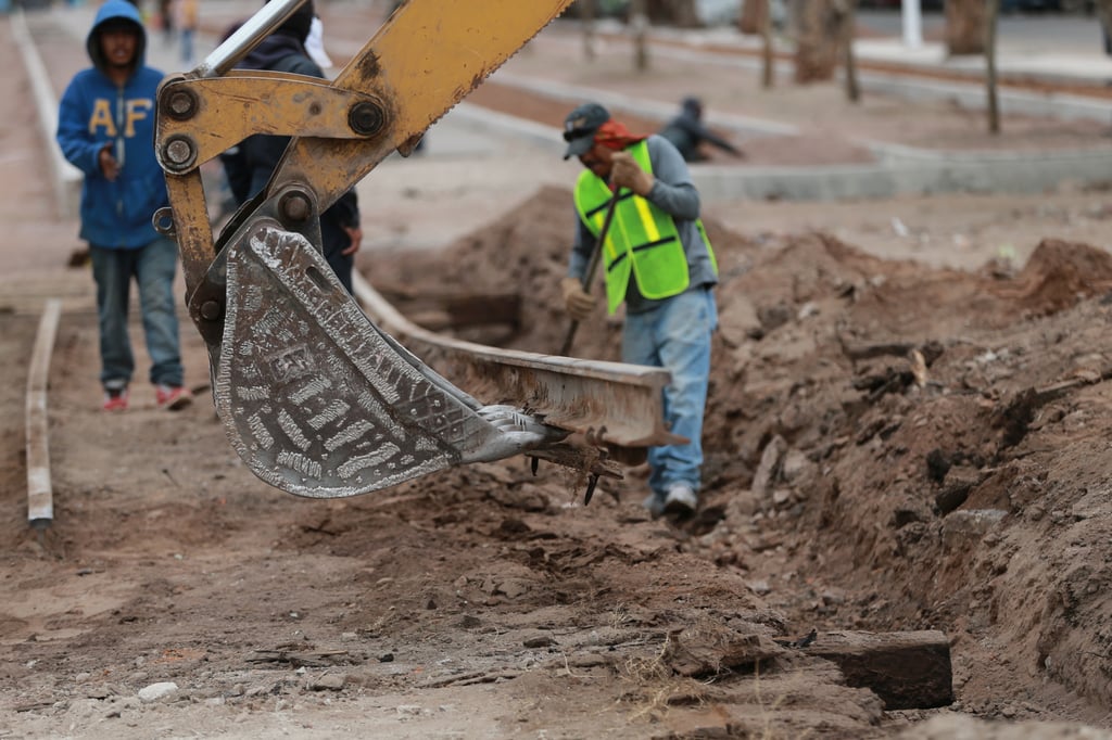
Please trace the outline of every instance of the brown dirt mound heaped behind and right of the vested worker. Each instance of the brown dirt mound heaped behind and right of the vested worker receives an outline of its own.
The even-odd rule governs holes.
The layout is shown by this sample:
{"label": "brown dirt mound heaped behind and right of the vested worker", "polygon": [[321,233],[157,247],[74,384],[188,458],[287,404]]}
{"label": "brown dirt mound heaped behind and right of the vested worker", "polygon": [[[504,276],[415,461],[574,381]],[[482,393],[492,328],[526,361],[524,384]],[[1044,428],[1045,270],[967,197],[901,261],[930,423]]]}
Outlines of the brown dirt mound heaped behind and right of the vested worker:
{"label": "brown dirt mound heaped behind and right of the vested worker", "polygon": [[[570,193],[545,189],[513,220],[374,279],[517,288],[507,343],[550,352],[573,218]],[[1001,698],[1044,680],[1112,704],[1099,382],[1112,340],[1093,298],[1112,284],[1109,256],[1045,240],[1014,277],[972,274],[824,233],[708,230],[722,321],[704,510],[683,550],[757,584],[788,632],[944,630],[976,713],[1034,716]],[[589,322],[575,352],[614,359],[619,334],[620,317]],[[641,484],[637,470],[604,483],[618,497]]]}

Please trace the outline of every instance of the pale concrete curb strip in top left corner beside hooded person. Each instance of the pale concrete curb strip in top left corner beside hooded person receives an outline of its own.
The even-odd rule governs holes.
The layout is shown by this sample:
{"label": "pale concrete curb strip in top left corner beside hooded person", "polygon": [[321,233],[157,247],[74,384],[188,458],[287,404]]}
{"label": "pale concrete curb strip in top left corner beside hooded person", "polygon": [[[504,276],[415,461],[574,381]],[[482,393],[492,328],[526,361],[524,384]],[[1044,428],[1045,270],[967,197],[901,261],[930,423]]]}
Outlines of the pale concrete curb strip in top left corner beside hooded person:
{"label": "pale concrete curb strip in top left corner beside hooded person", "polygon": [[27,19],[23,17],[22,8],[16,8],[10,18],[11,34],[16,46],[19,47],[20,57],[23,59],[23,68],[31,82],[31,94],[34,97],[34,104],[39,111],[39,130],[42,132],[42,140],[47,147],[47,158],[50,161],[50,171],[54,180],[58,214],[63,219],[75,218],[81,208],[81,184],[85,181],[85,174],[62,156],[58,141],[54,139],[58,131],[58,98],[54,96],[39,50],[27,28]]}

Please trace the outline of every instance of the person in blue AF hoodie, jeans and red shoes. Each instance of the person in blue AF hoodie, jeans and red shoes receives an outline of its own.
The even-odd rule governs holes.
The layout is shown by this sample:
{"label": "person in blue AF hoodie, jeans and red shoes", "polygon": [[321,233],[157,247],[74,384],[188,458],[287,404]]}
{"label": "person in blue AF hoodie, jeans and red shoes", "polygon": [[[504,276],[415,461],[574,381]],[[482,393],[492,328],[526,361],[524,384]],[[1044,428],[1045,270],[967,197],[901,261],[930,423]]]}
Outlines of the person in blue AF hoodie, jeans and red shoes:
{"label": "person in blue AF hoodie, jeans and red shoes", "polygon": [[147,33],[127,0],[107,0],[86,40],[92,67],[78,72],[62,94],[57,140],[85,173],[80,237],[89,243],[97,282],[102,408],[128,408],[135,356],[128,334],[131,280],[150,354],[150,381],[159,407],[190,403],[173,297],[178,247],[159,234],[151,217],[169,204],[155,158],[155,100],[162,73],[143,63]]}

